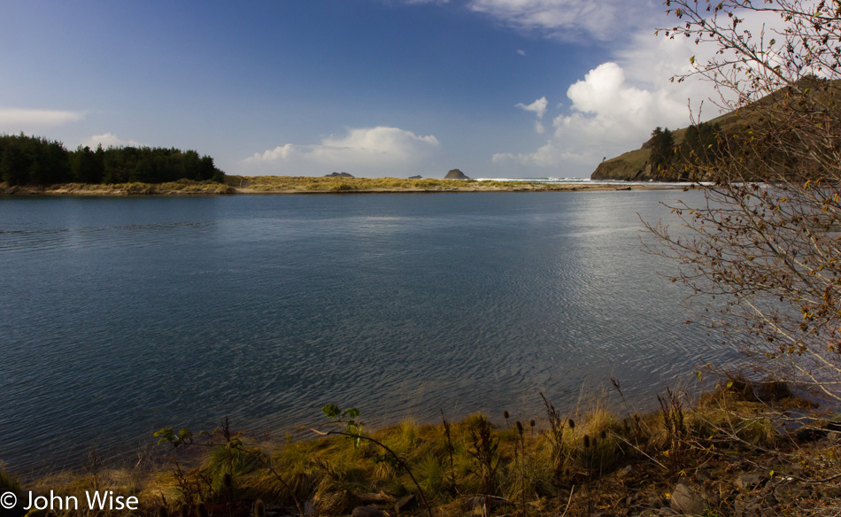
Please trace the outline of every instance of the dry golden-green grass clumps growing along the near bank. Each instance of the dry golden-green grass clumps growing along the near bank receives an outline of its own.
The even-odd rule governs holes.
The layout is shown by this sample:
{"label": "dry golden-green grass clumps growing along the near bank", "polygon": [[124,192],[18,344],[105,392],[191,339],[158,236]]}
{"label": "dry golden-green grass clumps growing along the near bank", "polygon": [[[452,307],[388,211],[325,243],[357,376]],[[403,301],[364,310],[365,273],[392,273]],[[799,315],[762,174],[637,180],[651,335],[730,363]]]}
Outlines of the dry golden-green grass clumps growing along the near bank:
{"label": "dry golden-green grass clumps growing along the near bank", "polygon": [[[505,423],[501,418],[489,419],[477,413],[451,424],[449,440],[444,425],[411,420],[366,436],[388,446],[409,467],[439,516],[474,512],[467,501],[482,495],[483,487],[488,486],[482,472],[488,472],[485,469],[489,466],[476,455],[482,447],[476,438],[482,421],[496,422],[490,430],[490,495],[509,501],[510,505],[498,509],[503,513],[521,514],[523,501],[527,513],[563,513],[574,486],[577,489],[570,499],[570,514],[590,514],[590,506],[615,507],[617,501],[630,500],[629,493],[634,498],[638,494],[665,498],[663,494],[672,490],[675,482],[691,479],[701,470],[721,471],[717,475],[722,479],[730,478],[732,475],[726,473],[736,468],[734,459],[744,466],[745,454],[760,461],[760,454],[791,445],[791,440],[782,440],[779,435],[775,418],[779,419],[780,413],[773,416],[768,405],[745,401],[727,390],[701,397],[695,404],[685,402],[685,434],[681,447],[676,448],[667,439],[663,412],[622,418],[607,410],[604,394],[590,400],[582,398],[577,407],[562,415],[559,462],[555,456],[558,449],[553,446],[555,438],[547,419],[540,415],[536,415],[532,427],[529,421],[518,426],[517,421]],[[366,504],[366,498],[379,498],[380,504],[388,504],[417,493],[409,473],[370,441],[363,440],[356,446],[346,436],[328,436],[297,441],[288,438],[279,444],[240,437],[245,451],[231,450],[223,444],[209,449],[179,449],[179,467],[169,463],[147,470],[50,475],[35,486],[66,495],[94,486],[135,494],[141,498],[146,514],[154,513],[163,500],[171,509],[188,499],[195,505],[197,494],[202,494],[207,503],[224,503],[230,497],[223,486],[228,472],[233,475],[235,498],[260,498],[270,507],[289,507],[293,504],[291,490],[301,503],[312,500],[322,514],[351,513],[355,506]],[[197,456],[193,452],[199,449]],[[804,454],[796,452],[792,461],[799,465],[805,461]],[[675,458],[678,453],[680,457]],[[782,454],[775,458],[777,463],[782,461]],[[818,454],[815,462],[830,471],[841,467],[841,453],[837,451],[817,450],[808,457],[814,454]],[[274,466],[282,482],[263,460]],[[629,465],[633,466],[631,477],[620,473]],[[729,504],[722,501],[721,509],[728,509]],[[419,506],[416,513],[421,512]]]}

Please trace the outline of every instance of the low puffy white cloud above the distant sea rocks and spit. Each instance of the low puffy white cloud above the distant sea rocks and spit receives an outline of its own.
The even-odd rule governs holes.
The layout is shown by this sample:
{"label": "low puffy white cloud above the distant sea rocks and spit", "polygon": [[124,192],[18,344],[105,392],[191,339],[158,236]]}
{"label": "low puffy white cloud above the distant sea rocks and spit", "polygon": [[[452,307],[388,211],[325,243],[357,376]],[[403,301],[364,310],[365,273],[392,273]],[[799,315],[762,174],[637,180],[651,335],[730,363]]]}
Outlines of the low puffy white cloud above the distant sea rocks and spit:
{"label": "low puffy white cloud above the distant sea rocks and spit", "polygon": [[434,135],[420,136],[397,127],[348,129],[347,134],[330,135],[320,143],[286,143],[243,160],[259,174],[403,174],[417,166],[439,147]]}

